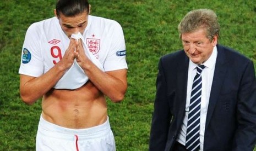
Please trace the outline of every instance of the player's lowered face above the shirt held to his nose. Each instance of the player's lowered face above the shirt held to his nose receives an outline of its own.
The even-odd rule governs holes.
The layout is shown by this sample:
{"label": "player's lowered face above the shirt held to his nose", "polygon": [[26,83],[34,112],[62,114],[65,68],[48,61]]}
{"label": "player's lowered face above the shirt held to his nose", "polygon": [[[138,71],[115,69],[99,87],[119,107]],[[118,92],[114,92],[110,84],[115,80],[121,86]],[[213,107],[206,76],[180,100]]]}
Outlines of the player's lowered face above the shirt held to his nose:
{"label": "player's lowered face above the shirt held to his nose", "polygon": [[70,38],[73,33],[84,33],[88,25],[88,15],[87,11],[70,17],[59,14],[59,24],[68,38]]}

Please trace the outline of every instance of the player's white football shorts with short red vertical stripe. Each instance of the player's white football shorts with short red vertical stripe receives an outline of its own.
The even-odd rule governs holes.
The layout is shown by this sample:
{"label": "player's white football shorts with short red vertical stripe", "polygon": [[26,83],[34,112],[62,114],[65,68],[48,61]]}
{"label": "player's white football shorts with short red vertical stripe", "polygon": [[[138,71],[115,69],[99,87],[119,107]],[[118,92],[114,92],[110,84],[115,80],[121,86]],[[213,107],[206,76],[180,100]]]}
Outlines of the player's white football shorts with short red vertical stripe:
{"label": "player's white football shorts with short red vertical stripe", "polygon": [[108,118],[104,124],[77,130],[52,124],[41,115],[36,135],[36,150],[113,151],[116,150],[116,145]]}

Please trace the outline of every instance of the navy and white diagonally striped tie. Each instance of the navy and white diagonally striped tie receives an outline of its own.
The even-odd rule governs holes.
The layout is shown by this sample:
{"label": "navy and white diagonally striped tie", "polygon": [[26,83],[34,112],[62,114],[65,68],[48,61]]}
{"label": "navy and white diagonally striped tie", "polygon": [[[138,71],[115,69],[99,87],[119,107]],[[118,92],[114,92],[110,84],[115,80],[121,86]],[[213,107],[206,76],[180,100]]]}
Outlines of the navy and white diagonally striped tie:
{"label": "navy and white diagonally striped tie", "polygon": [[197,66],[197,75],[195,75],[192,85],[186,136],[186,148],[188,150],[200,149],[201,72],[204,68],[204,65]]}

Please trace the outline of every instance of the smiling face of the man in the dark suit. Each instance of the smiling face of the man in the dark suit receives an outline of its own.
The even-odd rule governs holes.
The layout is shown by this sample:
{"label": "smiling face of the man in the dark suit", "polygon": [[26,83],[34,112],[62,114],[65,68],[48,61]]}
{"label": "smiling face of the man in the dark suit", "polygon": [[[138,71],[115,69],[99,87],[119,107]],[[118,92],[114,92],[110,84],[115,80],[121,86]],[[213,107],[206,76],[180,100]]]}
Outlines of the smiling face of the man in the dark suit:
{"label": "smiling face of the man in the dark suit", "polygon": [[189,59],[200,65],[209,59],[213,48],[217,44],[217,36],[213,40],[206,38],[206,32],[203,28],[195,32],[181,34],[183,49]]}

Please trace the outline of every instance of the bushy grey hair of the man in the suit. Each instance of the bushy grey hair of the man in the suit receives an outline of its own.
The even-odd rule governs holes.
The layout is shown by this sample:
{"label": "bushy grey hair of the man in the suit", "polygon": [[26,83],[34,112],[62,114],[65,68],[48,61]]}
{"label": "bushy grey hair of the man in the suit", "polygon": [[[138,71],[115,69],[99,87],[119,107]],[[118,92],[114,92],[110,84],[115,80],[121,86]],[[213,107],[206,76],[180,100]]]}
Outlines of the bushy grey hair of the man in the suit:
{"label": "bushy grey hair of the man in the suit", "polygon": [[217,15],[210,9],[196,9],[189,11],[184,18],[179,22],[178,31],[181,38],[182,33],[189,33],[204,28],[206,38],[213,40],[215,35],[219,35],[220,25],[217,20]]}

